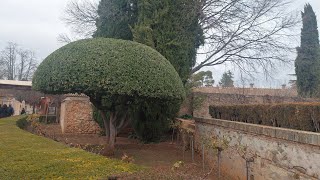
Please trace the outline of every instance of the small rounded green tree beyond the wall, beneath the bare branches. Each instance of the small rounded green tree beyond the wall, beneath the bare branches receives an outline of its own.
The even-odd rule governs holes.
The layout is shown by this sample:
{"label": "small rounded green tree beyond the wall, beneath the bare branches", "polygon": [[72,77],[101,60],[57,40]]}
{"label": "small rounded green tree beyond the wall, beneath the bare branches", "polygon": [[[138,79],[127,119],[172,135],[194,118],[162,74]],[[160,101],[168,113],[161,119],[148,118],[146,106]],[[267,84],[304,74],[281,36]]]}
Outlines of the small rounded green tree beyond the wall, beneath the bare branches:
{"label": "small rounded green tree beyond the wall, beneath the bare branches", "polygon": [[211,71],[200,71],[196,74],[191,75],[190,78],[191,87],[202,87],[202,86],[212,86],[214,80]]}

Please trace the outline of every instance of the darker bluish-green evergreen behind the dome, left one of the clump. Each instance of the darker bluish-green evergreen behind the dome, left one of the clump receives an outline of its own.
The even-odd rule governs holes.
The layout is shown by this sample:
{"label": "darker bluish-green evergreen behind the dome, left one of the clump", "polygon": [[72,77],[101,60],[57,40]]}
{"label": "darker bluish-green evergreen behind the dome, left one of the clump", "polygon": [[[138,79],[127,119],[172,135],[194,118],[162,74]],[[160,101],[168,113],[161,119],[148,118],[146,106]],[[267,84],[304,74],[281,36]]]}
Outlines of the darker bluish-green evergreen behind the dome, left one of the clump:
{"label": "darker bluish-green evergreen behind the dome, left one of the clump", "polygon": [[137,21],[137,0],[101,0],[94,37],[132,40],[130,26]]}

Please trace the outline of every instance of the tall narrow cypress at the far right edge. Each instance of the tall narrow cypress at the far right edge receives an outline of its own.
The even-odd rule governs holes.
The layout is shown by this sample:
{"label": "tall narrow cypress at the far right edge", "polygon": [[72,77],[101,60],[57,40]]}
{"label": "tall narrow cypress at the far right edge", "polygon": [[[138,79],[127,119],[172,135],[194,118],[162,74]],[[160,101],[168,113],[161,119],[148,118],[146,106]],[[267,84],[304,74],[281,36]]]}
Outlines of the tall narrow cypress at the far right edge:
{"label": "tall narrow cypress at the far right edge", "polygon": [[298,93],[302,97],[319,96],[320,56],[317,18],[310,4],[301,13],[301,45],[295,61]]}

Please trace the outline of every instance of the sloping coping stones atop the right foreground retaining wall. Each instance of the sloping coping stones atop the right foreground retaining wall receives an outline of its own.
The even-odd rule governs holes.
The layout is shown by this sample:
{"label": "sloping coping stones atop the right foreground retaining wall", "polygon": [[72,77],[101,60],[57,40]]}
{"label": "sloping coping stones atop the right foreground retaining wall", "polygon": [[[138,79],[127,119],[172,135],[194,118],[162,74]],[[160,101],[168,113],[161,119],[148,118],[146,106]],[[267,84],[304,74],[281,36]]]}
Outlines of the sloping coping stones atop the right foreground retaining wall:
{"label": "sloping coping stones atop the right foreground retaining wall", "polygon": [[231,128],[247,133],[264,135],[272,138],[283,139],[287,141],[293,141],[303,144],[320,146],[320,133],[299,131],[294,129],[286,129],[279,127],[263,126],[257,124],[228,121],[213,118],[196,118],[194,120],[197,123],[211,124],[215,126],[221,126],[225,128]]}

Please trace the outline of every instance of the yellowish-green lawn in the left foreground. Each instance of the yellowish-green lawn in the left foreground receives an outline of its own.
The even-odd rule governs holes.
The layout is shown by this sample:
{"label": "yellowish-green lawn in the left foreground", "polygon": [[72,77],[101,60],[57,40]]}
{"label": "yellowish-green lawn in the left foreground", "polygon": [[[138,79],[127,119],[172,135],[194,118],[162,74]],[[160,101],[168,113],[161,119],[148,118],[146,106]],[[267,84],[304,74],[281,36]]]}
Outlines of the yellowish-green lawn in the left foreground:
{"label": "yellowish-green lawn in the left foreground", "polygon": [[140,167],[70,148],[0,119],[0,179],[107,179]]}

